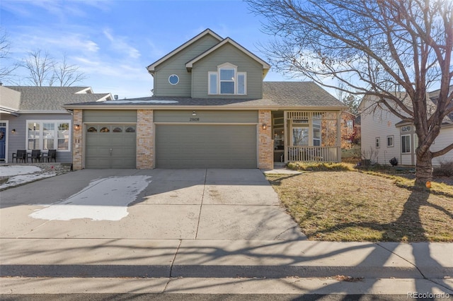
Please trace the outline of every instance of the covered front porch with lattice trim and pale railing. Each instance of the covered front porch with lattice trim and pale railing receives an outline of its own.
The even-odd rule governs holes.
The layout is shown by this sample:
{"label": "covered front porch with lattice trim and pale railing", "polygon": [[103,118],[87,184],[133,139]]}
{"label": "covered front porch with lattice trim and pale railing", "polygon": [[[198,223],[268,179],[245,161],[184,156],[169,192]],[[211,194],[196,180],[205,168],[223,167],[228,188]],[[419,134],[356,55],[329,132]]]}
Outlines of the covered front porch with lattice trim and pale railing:
{"label": "covered front porch with lattice trim and pale railing", "polygon": [[341,161],[340,111],[272,112],[274,162]]}

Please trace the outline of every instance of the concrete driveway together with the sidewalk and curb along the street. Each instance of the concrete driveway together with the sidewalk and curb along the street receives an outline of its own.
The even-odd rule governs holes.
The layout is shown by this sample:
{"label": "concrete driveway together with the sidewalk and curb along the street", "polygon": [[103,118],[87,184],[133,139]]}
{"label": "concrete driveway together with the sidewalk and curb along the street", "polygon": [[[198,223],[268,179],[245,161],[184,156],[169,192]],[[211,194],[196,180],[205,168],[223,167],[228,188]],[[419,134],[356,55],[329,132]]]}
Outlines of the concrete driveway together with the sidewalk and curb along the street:
{"label": "concrete driveway together with the sidewalk and curb along the street", "polygon": [[[149,182],[141,191],[140,179]],[[117,202],[121,183],[134,201],[120,220],[30,217],[65,206],[107,211],[98,199]],[[1,278],[0,294],[50,292],[69,279],[152,293],[142,286],[147,278],[160,293],[264,293],[275,285],[388,294],[382,285],[393,283],[390,293],[453,295],[453,244],[307,241],[260,170],[71,172],[2,191],[0,225],[0,276],[21,277]]]}

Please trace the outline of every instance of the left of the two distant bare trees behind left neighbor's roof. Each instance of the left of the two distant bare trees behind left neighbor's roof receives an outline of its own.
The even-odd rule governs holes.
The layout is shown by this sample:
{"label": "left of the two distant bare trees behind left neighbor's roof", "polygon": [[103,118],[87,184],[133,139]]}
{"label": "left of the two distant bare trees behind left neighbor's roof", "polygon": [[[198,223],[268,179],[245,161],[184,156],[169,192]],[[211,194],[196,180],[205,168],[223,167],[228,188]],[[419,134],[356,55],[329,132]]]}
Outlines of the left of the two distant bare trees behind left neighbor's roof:
{"label": "left of the two distant bare trees behind left neighbor's roof", "polygon": [[55,81],[55,60],[49,52],[43,53],[41,49],[28,52],[28,58],[25,59],[22,66],[27,69],[26,78],[32,85],[41,87],[42,85],[52,85]]}

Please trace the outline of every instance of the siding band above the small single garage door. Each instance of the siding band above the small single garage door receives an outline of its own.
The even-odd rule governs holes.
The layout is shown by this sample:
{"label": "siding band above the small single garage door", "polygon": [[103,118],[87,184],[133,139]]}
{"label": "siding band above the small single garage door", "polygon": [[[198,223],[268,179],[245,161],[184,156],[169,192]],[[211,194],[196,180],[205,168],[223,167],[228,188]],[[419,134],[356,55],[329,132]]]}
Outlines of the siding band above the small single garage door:
{"label": "siding band above the small single garage door", "polygon": [[137,122],[137,110],[84,110],[86,122]]}

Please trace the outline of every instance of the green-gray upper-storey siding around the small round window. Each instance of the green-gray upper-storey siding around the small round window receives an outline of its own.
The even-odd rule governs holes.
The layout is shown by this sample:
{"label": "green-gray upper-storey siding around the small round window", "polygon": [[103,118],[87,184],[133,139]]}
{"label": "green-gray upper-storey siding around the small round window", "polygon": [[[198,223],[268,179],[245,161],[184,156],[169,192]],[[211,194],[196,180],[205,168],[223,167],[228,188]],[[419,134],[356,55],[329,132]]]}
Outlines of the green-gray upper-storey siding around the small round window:
{"label": "green-gray upper-storey siding around the small round window", "polygon": [[[185,69],[185,63],[210,49],[218,42],[219,40],[207,35],[156,66],[154,71],[154,95],[190,97],[191,76]],[[168,76],[171,76],[171,74],[176,74],[179,77],[177,85],[168,83]]]}

